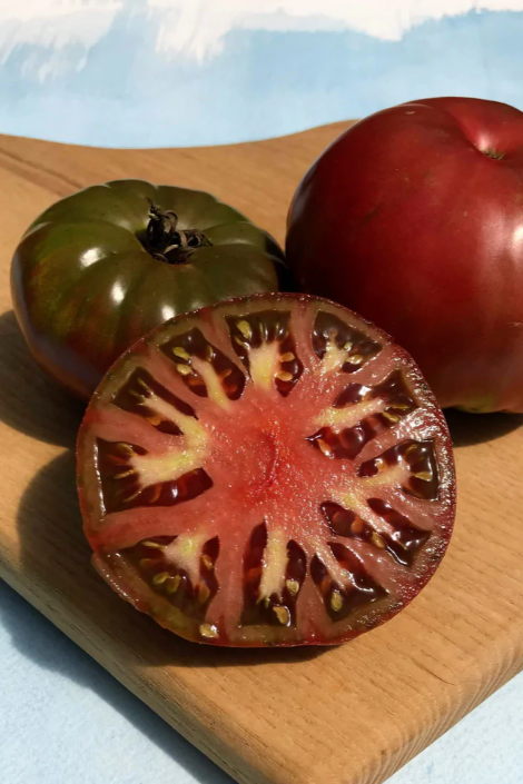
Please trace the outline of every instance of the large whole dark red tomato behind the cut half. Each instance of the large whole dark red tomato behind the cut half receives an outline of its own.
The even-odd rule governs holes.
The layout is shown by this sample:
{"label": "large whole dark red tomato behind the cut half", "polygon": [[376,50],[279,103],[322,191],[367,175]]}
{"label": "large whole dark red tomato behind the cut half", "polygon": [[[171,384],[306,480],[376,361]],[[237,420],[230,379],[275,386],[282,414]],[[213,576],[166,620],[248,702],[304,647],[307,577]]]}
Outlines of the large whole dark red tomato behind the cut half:
{"label": "large whole dark red tomato behind the cut half", "polygon": [[391,333],[443,407],[523,411],[523,113],[386,109],[313,165],[289,212],[300,287]]}

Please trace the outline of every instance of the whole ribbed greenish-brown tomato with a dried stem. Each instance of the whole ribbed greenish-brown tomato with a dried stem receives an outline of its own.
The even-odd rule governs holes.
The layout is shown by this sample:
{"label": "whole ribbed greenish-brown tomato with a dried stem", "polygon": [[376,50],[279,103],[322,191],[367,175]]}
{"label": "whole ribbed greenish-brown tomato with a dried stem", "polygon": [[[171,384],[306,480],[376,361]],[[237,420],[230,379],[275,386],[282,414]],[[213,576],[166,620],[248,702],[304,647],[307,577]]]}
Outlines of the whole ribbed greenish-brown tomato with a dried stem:
{"label": "whole ribbed greenish-brown tomato with a dried stem", "polygon": [[14,311],[33,356],[89,398],[159,324],[233,296],[278,289],[282,250],[209,193],[117,180],[50,207],[12,261]]}

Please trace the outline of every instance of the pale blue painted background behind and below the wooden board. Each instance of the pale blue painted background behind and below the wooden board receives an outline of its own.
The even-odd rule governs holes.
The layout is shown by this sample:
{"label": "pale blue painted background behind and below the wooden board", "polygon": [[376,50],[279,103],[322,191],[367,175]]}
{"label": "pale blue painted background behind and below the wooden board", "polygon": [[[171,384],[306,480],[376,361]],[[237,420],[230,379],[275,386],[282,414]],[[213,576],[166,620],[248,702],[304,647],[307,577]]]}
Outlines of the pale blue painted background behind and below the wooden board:
{"label": "pale blue painted background behind and below the wooden board", "polygon": [[[249,0],[245,13],[239,0],[223,0],[216,23],[225,23],[214,40],[215,17],[207,17],[219,0],[176,0],[176,12],[155,0],[61,0],[60,7],[58,0],[19,0],[20,11],[0,0],[0,132],[109,147],[207,145],[443,93],[523,109],[521,11],[478,12],[455,0],[467,12],[438,18],[438,2],[431,0],[417,3],[426,18],[407,13],[405,21],[414,1],[383,3],[397,6],[399,32],[385,24],[373,34],[373,20],[353,29],[351,13],[328,17],[333,0],[318,0],[316,12],[303,17],[289,16],[294,0],[282,0],[283,10],[255,19]],[[236,11],[227,23],[229,7]],[[109,23],[101,23],[108,8]],[[196,14],[196,27],[186,29],[195,8],[201,19]],[[175,44],[162,44],[166,31]],[[520,676],[389,784],[521,784],[522,705]],[[230,780],[0,583],[0,781]]]}

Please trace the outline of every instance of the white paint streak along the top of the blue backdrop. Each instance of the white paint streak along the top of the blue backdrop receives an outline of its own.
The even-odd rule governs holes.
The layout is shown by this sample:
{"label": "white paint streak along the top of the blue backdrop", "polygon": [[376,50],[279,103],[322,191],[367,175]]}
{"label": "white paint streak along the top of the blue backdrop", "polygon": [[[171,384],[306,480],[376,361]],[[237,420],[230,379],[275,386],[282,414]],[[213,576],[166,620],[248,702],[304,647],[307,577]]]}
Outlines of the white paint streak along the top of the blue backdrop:
{"label": "white paint streak along the top of the blue backdrop", "polygon": [[[523,11],[523,0],[0,0],[0,62],[21,43],[55,51],[70,43],[89,49],[124,9],[159,12],[157,50],[201,62],[218,54],[226,34],[237,29],[353,29],[399,40],[427,19],[473,10]],[[60,68],[60,58],[52,58],[40,78]]]}

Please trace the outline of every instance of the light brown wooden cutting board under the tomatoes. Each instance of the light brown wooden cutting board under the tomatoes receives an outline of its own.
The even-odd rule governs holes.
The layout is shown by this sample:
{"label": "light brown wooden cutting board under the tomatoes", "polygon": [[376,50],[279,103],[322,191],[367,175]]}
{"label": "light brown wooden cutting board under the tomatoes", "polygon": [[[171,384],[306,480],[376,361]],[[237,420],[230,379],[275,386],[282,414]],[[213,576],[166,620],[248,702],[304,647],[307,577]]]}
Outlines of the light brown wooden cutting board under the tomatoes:
{"label": "light brown wooden cutting board under the tomatoes", "polygon": [[450,417],[458,515],[450,552],[397,618],[327,651],[191,645],[89,565],[75,489],[81,406],[36,368],[11,311],[19,236],[56,199],[139,177],[215,192],[284,239],[292,193],[343,128],[186,150],[0,138],[0,574],[238,782],[377,784],[523,663],[522,417]]}

